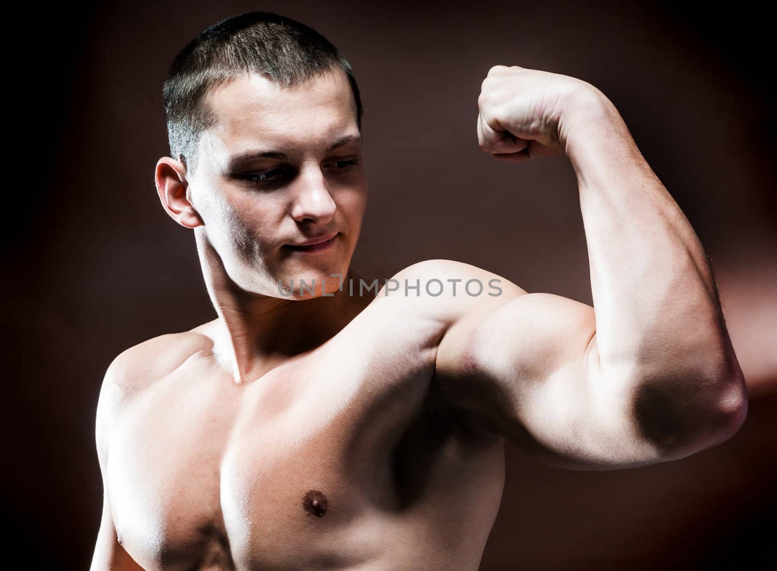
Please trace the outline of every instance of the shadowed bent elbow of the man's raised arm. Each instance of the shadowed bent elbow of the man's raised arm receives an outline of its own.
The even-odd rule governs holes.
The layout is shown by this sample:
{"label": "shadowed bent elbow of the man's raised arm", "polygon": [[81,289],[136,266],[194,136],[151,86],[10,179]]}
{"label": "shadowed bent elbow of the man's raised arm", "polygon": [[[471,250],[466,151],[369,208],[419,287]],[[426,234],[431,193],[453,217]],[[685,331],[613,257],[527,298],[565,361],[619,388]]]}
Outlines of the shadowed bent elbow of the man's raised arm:
{"label": "shadowed bent elbow of the man's raised arm", "polygon": [[744,377],[698,380],[678,376],[636,385],[636,425],[664,460],[729,440],[747,418]]}

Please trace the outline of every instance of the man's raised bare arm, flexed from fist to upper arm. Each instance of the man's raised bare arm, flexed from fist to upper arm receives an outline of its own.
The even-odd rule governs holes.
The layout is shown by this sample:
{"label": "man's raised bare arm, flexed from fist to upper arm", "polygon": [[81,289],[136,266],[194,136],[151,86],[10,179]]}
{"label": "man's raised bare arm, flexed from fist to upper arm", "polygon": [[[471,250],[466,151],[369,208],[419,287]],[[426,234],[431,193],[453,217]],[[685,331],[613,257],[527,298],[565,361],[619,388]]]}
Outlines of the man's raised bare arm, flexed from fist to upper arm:
{"label": "man's raised bare arm, flexed from fist to upper arm", "polygon": [[735,433],[747,393],[706,254],[607,97],[497,66],[478,133],[498,159],[566,153],[594,307],[517,291],[460,304],[437,354],[441,401],[569,468],[671,460]]}

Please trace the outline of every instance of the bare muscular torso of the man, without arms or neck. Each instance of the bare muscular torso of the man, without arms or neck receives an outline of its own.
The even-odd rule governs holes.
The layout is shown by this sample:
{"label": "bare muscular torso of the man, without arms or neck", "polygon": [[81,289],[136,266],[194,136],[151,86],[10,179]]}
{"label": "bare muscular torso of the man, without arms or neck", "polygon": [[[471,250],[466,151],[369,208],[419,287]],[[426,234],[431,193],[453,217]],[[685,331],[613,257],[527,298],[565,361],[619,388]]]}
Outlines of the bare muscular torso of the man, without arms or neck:
{"label": "bare muscular torso of the man, without arms or neck", "polygon": [[126,551],[144,569],[477,569],[503,443],[429,406],[441,334],[378,297],[242,386],[207,335],[176,336],[190,355],[114,419],[106,482]]}

